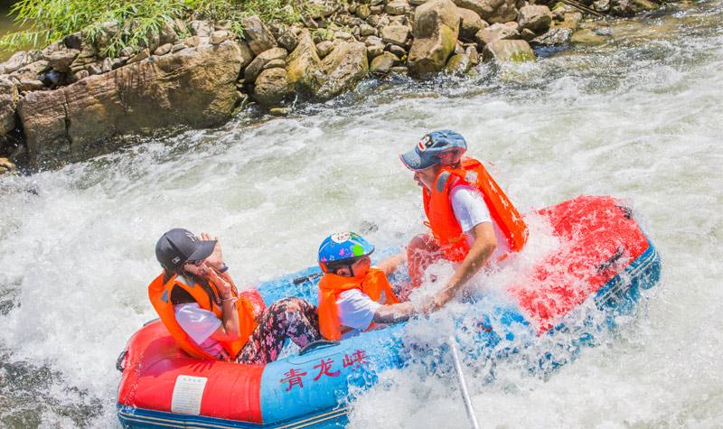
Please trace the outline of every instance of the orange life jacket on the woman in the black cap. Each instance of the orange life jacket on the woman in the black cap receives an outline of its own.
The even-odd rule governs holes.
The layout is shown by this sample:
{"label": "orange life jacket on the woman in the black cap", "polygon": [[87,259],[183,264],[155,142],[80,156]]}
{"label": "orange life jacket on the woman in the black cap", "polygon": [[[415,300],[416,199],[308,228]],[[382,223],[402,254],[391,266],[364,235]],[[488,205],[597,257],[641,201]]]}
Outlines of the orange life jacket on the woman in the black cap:
{"label": "orange life jacket on the woman in the black cap", "polygon": [[[202,350],[191,337],[183,331],[183,328],[175,320],[174,303],[171,303],[171,292],[174,287],[180,287],[188,294],[190,294],[193,300],[198,303],[199,307],[203,310],[213,312],[219,319],[222,318],[222,309],[215,302],[211,294],[206,292],[201,284],[184,284],[178,280],[177,276],[172,276],[167,282],[164,282],[164,274],[155,277],[155,280],[148,285],[148,297],[151,299],[151,303],[155,308],[155,312],[158,313],[158,317],[164,322],[165,328],[174,337],[174,340],[178,345],[190,354],[193,358],[198,359],[219,359],[218,356],[212,356],[206,351]],[[216,285],[209,282],[213,294],[219,296]],[[236,291],[233,291],[236,294]],[[222,357],[222,359],[233,359],[239,354],[239,351],[243,349],[246,342],[249,340],[251,332],[256,329],[256,321],[254,320],[253,305],[245,298],[239,298],[236,301],[236,311],[239,312],[239,340],[235,341],[219,341],[223,350],[226,350],[228,356]]]}

